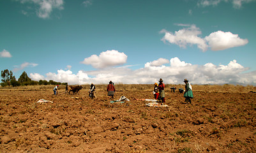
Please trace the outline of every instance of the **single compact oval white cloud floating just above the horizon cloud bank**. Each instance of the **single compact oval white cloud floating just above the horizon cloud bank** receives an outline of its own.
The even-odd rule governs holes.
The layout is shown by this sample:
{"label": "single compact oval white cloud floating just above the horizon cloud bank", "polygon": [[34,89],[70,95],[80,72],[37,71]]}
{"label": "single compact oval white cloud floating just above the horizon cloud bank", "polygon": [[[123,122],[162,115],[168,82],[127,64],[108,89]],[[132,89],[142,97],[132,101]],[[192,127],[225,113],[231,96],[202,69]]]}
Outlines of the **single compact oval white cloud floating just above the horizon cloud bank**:
{"label": "single compact oval white cloud floating just above the horizon cloud bank", "polygon": [[100,55],[91,55],[82,61],[82,64],[91,65],[94,68],[107,68],[109,66],[119,66],[127,61],[127,55],[117,50],[107,50]]}

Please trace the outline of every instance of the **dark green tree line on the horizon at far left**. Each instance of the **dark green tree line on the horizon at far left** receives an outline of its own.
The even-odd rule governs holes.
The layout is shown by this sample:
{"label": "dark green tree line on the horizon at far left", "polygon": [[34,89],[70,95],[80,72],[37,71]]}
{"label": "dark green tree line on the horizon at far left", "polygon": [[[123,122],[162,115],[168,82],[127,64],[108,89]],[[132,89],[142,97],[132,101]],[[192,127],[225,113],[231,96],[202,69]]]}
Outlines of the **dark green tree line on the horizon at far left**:
{"label": "dark green tree line on the horizon at far left", "polygon": [[22,75],[20,75],[19,79],[16,80],[15,76],[13,75],[13,72],[9,71],[8,69],[4,69],[3,71],[1,71],[1,77],[3,78],[1,79],[2,82],[0,83],[2,87],[6,87],[6,86],[17,87],[20,85],[66,85],[67,84],[67,83],[55,82],[54,80],[34,81],[27,76],[26,71],[24,71]]}

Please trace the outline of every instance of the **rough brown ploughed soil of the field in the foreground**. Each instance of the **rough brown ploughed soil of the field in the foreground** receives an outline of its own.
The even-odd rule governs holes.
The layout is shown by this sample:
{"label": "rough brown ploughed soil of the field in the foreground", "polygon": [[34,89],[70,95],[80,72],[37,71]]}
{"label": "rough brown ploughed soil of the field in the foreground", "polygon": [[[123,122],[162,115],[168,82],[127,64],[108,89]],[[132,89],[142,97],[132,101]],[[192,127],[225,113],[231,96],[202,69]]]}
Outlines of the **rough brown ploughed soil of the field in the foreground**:
{"label": "rough brown ploughed soil of the field in the foreground", "polygon": [[133,99],[152,91],[117,91],[130,101],[111,104],[103,90],[1,90],[0,152],[256,152],[255,93],[193,94],[190,105],[166,91],[169,107],[156,108]]}

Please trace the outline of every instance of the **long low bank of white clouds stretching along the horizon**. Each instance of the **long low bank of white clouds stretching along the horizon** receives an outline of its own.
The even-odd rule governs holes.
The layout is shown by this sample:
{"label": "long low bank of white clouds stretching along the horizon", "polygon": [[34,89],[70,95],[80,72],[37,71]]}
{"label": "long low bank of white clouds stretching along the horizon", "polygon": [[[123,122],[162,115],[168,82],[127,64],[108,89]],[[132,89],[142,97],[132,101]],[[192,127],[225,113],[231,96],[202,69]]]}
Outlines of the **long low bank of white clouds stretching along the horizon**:
{"label": "long low bank of white clouds stretching along the horizon", "polygon": [[[166,63],[163,62],[163,64]],[[158,82],[159,78],[163,78],[165,84],[183,84],[184,78],[187,78],[192,84],[256,85],[256,71],[246,73],[248,69],[237,63],[236,60],[230,61],[227,65],[215,65],[211,62],[204,65],[193,65],[174,57],[170,59],[169,66],[145,64],[144,68],[139,69],[121,66],[94,71],[79,71],[76,74],[70,70],[60,69],[57,73],[47,73],[45,79],[68,82],[68,84],[91,84],[91,82],[107,84],[110,80],[115,84],[154,84],[154,82]],[[43,78],[36,73],[30,77],[33,80]]]}

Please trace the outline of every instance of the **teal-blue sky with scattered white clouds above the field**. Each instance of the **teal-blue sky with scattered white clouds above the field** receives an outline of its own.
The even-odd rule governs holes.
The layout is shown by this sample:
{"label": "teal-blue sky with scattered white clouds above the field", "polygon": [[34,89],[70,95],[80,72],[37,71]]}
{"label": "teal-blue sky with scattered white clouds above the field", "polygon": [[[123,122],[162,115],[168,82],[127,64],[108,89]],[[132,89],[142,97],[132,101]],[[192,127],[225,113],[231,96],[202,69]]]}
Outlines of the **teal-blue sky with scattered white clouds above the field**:
{"label": "teal-blue sky with scattered white clouds above the field", "polygon": [[69,84],[256,85],[255,0],[2,0],[0,69]]}

